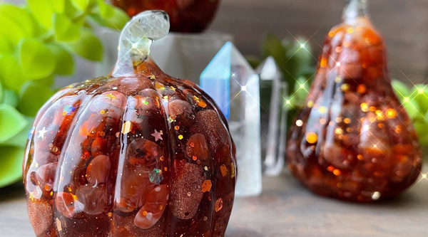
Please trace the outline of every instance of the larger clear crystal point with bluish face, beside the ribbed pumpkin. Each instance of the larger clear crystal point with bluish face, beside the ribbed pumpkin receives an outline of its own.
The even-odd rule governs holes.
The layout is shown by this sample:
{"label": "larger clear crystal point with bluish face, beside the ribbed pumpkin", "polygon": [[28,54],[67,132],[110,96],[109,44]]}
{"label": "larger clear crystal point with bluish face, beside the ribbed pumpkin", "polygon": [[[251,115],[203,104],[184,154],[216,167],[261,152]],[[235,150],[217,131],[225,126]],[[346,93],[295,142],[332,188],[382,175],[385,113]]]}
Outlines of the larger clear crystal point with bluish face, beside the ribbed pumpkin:
{"label": "larger clear crystal point with bluish face, beside the ribbed pumpkin", "polygon": [[262,191],[259,77],[233,43],[225,43],[200,75],[200,85],[228,120],[236,144],[238,196]]}

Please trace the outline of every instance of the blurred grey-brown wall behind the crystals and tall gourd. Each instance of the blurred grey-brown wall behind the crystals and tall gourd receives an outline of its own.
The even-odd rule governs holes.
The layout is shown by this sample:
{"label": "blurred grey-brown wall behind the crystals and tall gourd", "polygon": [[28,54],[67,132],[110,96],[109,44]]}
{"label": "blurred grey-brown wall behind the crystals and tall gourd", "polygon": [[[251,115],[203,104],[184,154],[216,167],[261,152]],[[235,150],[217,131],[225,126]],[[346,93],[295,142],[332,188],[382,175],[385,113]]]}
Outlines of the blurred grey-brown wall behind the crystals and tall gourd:
{"label": "blurred grey-brown wall behind the crystals and tall gourd", "polygon": [[[4,2],[21,4],[24,0]],[[340,23],[344,6],[345,0],[223,0],[208,30],[232,34],[244,55],[255,56],[267,33],[310,38],[317,57],[327,32]],[[427,12],[426,0],[370,1],[372,21],[388,46],[391,76],[409,85],[424,83],[428,76]]]}

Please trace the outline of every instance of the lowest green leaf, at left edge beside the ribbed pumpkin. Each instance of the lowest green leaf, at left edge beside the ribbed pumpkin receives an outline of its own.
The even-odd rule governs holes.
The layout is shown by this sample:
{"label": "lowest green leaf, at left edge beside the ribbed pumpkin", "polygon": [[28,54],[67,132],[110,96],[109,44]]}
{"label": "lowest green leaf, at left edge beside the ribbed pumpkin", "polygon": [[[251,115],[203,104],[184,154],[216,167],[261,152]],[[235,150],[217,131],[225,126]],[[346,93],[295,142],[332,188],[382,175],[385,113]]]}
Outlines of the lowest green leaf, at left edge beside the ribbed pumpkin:
{"label": "lowest green leaf, at left edge beside the ribbed pumpkin", "polygon": [[0,188],[21,179],[24,149],[0,147]]}

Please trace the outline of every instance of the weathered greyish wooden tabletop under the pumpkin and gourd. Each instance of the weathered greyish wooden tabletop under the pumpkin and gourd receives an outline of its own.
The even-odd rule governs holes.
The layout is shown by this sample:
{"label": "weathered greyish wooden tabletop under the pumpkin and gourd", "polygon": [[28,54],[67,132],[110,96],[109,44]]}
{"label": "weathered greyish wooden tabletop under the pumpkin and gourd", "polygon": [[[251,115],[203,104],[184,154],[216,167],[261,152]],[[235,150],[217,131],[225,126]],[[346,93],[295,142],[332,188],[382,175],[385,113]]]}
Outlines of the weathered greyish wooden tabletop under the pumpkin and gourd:
{"label": "weathered greyish wooden tabletop under the pumpkin and gourd", "polygon": [[[428,165],[424,168],[426,172]],[[316,196],[288,172],[265,178],[263,185],[261,196],[236,199],[226,237],[428,235],[427,179],[399,199],[379,204],[352,204]],[[34,236],[19,184],[0,189],[0,236]]]}

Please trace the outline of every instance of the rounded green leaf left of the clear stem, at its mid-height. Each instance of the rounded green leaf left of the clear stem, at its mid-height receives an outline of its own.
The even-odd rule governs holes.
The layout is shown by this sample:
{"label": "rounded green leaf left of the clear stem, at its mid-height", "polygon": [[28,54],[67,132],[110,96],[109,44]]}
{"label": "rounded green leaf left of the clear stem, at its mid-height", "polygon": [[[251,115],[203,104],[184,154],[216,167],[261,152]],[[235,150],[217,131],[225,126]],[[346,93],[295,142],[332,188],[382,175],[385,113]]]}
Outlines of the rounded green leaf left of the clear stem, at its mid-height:
{"label": "rounded green leaf left of the clear stem, at its mid-height", "polygon": [[68,43],[68,46],[74,53],[88,60],[103,59],[103,44],[88,28],[82,28],[80,40]]}

